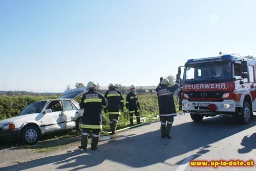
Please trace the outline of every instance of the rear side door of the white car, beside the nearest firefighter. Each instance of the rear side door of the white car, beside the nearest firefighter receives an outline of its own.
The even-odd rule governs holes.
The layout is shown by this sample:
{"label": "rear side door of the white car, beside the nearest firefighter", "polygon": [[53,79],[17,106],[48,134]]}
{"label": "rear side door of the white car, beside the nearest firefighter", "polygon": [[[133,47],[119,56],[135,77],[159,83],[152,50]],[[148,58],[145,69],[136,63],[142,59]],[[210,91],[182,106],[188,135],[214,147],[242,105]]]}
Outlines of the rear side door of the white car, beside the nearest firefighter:
{"label": "rear side door of the white car, beside the nearest firefighter", "polygon": [[76,119],[78,115],[77,108],[72,105],[70,100],[62,100],[63,113],[66,117],[66,129],[76,126]]}

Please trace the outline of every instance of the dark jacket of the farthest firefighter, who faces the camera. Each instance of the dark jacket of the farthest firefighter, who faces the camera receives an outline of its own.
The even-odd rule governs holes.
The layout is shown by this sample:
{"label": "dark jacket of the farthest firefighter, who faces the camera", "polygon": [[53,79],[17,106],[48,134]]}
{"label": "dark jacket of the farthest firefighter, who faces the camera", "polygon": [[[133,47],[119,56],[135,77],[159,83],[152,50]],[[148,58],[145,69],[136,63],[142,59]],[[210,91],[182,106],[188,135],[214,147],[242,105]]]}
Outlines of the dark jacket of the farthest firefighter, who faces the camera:
{"label": "dark jacket of the farthest firefighter, who faces the camera", "polygon": [[126,96],[126,109],[129,109],[129,113],[136,113],[140,111],[140,104],[138,96],[135,92],[130,92]]}

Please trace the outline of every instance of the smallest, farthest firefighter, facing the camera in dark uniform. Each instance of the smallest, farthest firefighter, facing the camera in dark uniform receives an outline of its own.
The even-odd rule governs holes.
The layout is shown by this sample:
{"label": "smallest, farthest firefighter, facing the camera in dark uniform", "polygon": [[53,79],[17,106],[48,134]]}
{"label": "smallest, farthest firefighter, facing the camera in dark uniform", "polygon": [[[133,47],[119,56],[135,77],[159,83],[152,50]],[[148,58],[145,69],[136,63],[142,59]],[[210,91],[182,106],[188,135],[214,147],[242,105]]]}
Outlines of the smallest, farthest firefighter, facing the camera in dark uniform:
{"label": "smallest, farthest firefighter, facing the camera in dark uniform", "polygon": [[135,86],[131,85],[130,87],[131,92],[126,96],[126,109],[130,115],[130,123],[133,125],[133,114],[136,116],[137,124],[140,124],[140,104],[138,100],[138,96],[135,93]]}

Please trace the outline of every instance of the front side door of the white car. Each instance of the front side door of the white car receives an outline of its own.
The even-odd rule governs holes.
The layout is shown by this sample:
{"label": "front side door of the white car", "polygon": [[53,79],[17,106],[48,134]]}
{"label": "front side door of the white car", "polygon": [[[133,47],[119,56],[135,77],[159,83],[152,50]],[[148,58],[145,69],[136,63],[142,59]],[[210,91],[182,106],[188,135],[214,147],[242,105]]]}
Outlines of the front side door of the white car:
{"label": "front side door of the white car", "polygon": [[45,133],[66,129],[66,118],[62,111],[61,101],[50,101],[46,109],[51,109],[52,112],[44,113],[41,119],[41,128],[45,129]]}

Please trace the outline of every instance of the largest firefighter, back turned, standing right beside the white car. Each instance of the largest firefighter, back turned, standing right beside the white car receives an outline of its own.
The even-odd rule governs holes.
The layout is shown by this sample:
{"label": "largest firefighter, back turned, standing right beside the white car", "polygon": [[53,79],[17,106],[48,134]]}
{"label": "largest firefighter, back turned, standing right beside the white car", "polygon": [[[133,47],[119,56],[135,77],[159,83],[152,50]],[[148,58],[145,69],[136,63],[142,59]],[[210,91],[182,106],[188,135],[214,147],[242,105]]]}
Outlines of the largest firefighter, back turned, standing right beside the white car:
{"label": "largest firefighter, back turned, standing right beside the white car", "polygon": [[97,149],[99,141],[99,133],[102,129],[102,107],[106,108],[108,101],[105,97],[96,91],[97,85],[94,82],[87,84],[88,92],[83,94],[79,104],[84,109],[82,117],[82,136],[81,146],[79,149],[86,150],[88,143],[88,135],[92,131],[92,150]]}

